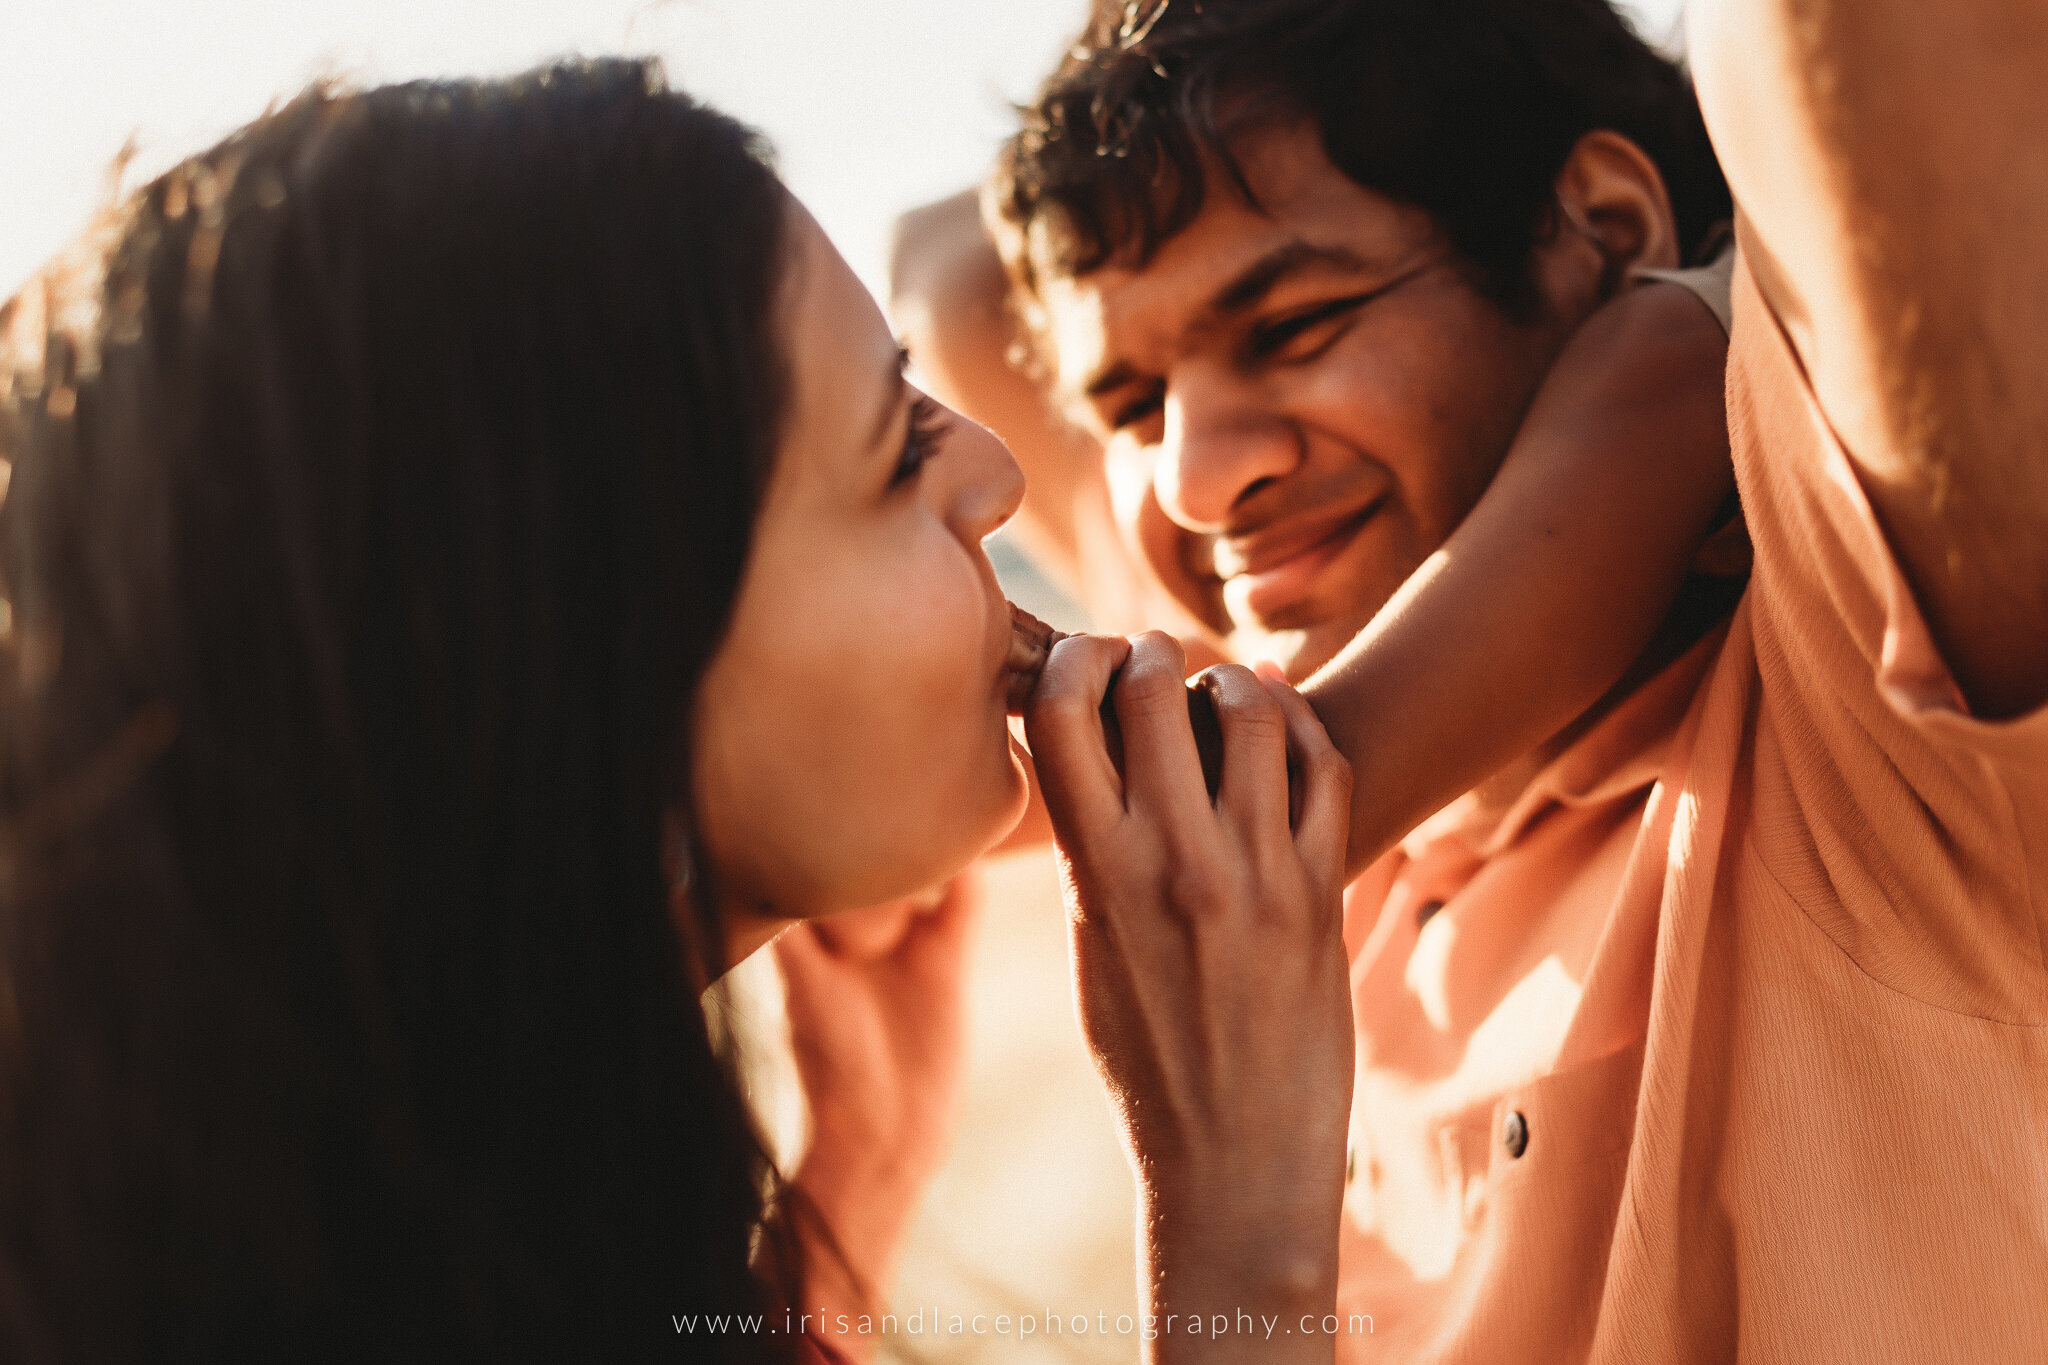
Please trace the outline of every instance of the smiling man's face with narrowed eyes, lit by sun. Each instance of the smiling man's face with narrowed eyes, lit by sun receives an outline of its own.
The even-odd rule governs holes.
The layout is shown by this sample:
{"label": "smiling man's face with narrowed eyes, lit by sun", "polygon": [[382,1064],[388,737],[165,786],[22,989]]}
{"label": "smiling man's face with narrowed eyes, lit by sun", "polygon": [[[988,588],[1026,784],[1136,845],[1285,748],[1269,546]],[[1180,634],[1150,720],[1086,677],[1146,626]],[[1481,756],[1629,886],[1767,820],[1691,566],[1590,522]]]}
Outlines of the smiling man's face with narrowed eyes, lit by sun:
{"label": "smiling man's face with narrowed eyes, lit by sun", "polygon": [[1233,657],[1300,681],[1470,512],[1593,301],[1511,323],[1311,125],[1239,153],[1264,213],[1212,192],[1143,270],[1047,305],[1126,532]]}

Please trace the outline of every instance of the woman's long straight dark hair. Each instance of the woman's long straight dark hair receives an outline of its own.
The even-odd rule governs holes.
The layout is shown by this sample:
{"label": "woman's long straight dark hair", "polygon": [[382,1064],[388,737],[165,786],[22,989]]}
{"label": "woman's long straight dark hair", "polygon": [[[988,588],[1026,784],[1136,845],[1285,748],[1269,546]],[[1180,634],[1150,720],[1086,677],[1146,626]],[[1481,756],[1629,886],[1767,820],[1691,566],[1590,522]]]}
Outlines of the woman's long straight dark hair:
{"label": "woman's long straight dark hair", "polygon": [[315,90],[8,305],[8,1361],[776,1353],[670,1316],[793,1291],[678,837],[782,223],[647,63]]}

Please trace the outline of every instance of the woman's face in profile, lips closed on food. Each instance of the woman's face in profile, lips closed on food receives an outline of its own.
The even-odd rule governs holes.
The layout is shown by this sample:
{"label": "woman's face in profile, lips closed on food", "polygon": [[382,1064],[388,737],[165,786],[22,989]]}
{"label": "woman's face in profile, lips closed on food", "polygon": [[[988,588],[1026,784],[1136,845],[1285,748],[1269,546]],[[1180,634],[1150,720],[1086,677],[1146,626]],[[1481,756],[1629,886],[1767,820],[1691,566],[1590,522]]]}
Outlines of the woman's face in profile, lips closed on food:
{"label": "woman's face in profile, lips closed on food", "polygon": [[782,309],[782,444],[696,714],[696,819],[733,960],[776,921],[944,880],[1026,796],[1010,610],[981,548],[1024,475],[903,381],[874,299],[795,201]]}

